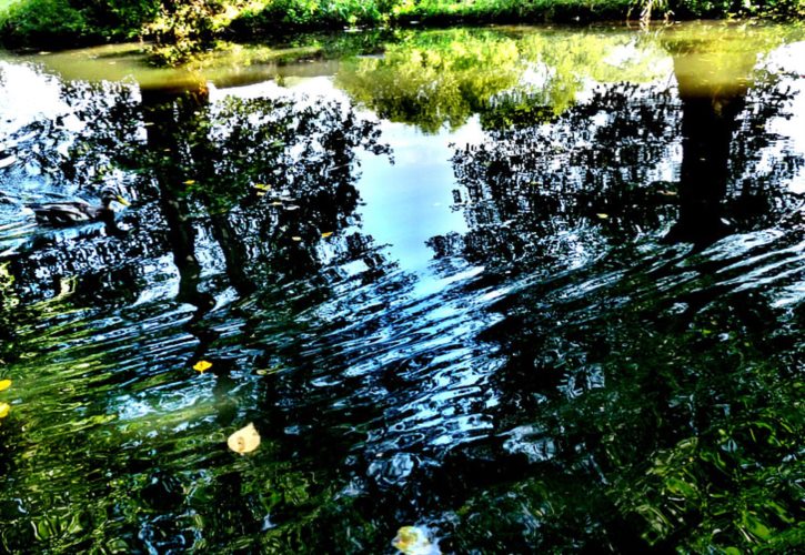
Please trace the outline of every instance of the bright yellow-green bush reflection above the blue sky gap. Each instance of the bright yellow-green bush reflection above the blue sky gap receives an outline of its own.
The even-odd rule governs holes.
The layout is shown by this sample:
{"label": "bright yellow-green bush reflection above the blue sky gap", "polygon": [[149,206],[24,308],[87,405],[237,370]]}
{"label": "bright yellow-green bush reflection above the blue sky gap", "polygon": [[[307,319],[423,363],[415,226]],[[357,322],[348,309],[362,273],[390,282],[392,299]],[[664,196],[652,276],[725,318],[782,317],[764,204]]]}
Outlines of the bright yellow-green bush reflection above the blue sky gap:
{"label": "bright yellow-green bush reflection above the blue sky gap", "polygon": [[657,56],[623,36],[450,30],[403,38],[380,59],[354,59],[336,82],[380,115],[426,132],[455,129],[477,112],[496,128],[552,119],[588,80],[654,79],[663,71]]}

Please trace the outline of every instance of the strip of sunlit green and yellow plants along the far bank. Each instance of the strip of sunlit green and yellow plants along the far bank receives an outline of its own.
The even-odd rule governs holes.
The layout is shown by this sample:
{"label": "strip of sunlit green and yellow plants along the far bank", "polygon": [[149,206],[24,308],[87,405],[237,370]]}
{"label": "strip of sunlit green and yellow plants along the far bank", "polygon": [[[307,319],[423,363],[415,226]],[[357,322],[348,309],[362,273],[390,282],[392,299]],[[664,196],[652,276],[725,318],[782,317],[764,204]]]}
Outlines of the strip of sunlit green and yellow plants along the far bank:
{"label": "strip of sunlit green and yellow plants along the far bank", "polygon": [[48,49],[143,38],[178,63],[220,38],[302,29],[803,13],[803,0],[0,0],[0,40]]}

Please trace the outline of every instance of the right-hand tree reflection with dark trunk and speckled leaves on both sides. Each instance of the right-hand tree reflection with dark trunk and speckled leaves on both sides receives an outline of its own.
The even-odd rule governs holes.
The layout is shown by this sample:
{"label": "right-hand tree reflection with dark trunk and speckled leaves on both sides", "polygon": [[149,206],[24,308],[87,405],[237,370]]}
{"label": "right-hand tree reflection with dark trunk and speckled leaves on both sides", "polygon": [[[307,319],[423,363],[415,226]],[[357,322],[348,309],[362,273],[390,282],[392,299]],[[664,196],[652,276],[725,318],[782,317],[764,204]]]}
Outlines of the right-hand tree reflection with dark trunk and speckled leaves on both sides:
{"label": "right-hand tree reflection with dark trunk and speckled leaves on both sides", "polygon": [[[753,104],[762,108],[741,111],[739,129],[745,92],[713,99],[690,94],[684,83],[680,104],[662,89],[617,85],[601,88],[550,128],[496,132],[479,147],[456,151],[463,188],[455,194],[472,229],[460,243],[485,262],[545,255],[572,261],[668,226],[670,239],[706,242],[733,213],[743,230],[779,218],[796,200],[771,176],[795,174],[801,161],[782,152],[761,173],[757,155],[745,151],[746,144],[775,139],[758,125],[785,109],[785,95],[773,83],[765,85],[763,102]],[[683,161],[675,184],[678,132]],[[729,162],[736,152],[744,155]],[[727,186],[731,171],[733,182],[744,185]],[[746,210],[758,205],[769,211]],[[450,249],[445,241],[436,239],[434,246]]]}

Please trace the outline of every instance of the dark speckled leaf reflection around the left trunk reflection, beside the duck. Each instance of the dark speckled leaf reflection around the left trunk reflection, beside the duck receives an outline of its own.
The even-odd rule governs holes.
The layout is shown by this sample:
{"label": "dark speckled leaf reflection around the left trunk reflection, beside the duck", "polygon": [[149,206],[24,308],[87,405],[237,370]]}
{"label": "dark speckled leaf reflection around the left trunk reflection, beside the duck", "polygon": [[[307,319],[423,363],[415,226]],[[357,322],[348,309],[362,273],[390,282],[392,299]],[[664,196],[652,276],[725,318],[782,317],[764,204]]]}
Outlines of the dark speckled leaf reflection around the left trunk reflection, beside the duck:
{"label": "dark speckled leaf reflection around the left trunk reflection, beside the duck", "polygon": [[[182,210],[200,210],[219,241],[239,245],[224,246],[240,251],[228,261],[239,272],[313,271],[323,236],[358,205],[355,150],[389,152],[376,127],[325,100],[205,99],[203,89],[140,100],[130,85],[66,84],[70,109],[21,130],[17,154],[67,194],[91,198],[113,183],[152,210],[170,189],[167,202],[194,203]],[[66,256],[53,262],[81,273]]]}

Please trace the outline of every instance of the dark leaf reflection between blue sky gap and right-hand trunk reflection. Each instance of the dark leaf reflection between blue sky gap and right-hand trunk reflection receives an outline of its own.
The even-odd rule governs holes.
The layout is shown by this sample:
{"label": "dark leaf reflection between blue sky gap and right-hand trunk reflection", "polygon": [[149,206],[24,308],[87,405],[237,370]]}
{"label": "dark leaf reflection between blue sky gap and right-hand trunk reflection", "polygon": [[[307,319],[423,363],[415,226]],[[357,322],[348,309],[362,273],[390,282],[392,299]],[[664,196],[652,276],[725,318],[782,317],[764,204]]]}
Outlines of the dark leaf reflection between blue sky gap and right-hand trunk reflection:
{"label": "dark leaf reflection between blue sky gap and right-hand trunk reflection", "polygon": [[466,254],[487,263],[570,262],[593,255],[598,240],[617,243],[662,228],[674,194],[663,162],[677,110],[664,91],[611,87],[550,128],[497,132],[456,151],[465,188],[456,195],[472,230],[463,239]]}

